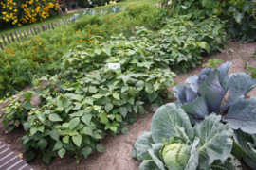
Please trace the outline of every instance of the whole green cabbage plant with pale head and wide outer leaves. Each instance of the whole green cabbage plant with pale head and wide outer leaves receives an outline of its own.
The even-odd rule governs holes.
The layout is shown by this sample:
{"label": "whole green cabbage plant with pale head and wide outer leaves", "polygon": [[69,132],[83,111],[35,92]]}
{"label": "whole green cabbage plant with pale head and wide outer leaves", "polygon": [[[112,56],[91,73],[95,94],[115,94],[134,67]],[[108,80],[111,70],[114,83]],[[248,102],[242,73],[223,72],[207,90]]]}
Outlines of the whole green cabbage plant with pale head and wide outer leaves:
{"label": "whole green cabbage plant with pale head and wide outer leaves", "polygon": [[[230,155],[233,130],[210,114],[192,127],[189,117],[174,104],[156,110],[151,131],[142,134],[132,157],[142,161],[139,169],[240,169]],[[207,138],[206,138],[207,136]]]}

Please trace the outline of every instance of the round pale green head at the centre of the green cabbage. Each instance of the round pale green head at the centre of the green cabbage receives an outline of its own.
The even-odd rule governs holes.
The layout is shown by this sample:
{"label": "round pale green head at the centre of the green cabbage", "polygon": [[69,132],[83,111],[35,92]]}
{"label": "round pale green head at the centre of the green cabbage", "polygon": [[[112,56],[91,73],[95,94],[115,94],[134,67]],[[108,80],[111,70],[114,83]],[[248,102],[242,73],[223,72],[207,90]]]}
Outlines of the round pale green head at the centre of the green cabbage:
{"label": "round pale green head at the centre of the green cabbage", "polygon": [[190,159],[191,147],[171,137],[169,143],[163,144],[160,156],[168,169],[183,170]]}

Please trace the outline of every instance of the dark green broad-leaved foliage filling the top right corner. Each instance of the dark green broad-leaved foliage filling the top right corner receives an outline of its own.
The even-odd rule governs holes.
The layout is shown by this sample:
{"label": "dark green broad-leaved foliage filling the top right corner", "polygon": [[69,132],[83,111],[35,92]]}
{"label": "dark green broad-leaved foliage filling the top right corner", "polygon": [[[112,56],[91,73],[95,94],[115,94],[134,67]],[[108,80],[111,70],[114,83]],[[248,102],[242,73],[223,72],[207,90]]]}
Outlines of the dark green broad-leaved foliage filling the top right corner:
{"label": "dark green broad-leaved foliage filling the top right corner", "polygon": [[254,1],[177,0],[173,1],[171,6],[174,7],[174,15],[189,14],[192,20],[198,23],[212,15],[217,15],[222,20],[229,20],[227,26],[232,40],[253,42],[256,39],[254,17],[256,2]]}

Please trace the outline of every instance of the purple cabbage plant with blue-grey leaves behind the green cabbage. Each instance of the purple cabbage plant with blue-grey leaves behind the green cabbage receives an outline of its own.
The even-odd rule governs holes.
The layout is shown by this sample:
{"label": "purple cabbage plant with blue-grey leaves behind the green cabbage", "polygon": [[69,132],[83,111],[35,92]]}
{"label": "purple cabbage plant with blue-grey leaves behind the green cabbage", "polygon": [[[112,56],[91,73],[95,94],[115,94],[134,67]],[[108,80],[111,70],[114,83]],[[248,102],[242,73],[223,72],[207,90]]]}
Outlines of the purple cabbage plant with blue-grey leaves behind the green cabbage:
{"label": "purple cabbage plant with blue-grey leaves behind the green cabbage", "polygon": [[[233,129],[256,134],[256,97],[245,98],[256,79],[246,73],[229,75],[230,66],[231,62],[226,62],[217,69],[204,68],[198,76],[189,77],[187,84],[175,86],[175,104],[187,112],[192,125],[214,112]],[[223,103],[228,91],[228,101]]]}

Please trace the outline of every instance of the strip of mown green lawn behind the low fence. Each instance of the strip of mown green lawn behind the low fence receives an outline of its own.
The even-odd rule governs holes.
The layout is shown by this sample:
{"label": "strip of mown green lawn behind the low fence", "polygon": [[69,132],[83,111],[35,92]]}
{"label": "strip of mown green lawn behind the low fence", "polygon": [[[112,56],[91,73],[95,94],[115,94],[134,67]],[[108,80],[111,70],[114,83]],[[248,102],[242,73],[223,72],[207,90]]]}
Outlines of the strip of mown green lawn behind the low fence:
{"label": "strip of mown green lawn behind the low fence", "polygon": [[[160,1],[161,0],[126,0],[126,1],[117,2],[116,4],[101,6],[101,7],[95,8],[95,9],[109,8],[112,6],[126,6],[126,5],[130,5],[133,3],[140,4],[140,5],[155,4]],[[39,26],[41,28],[41,25],[43,25],[43,24],[54,23],[54,22],[58,21],[59,19],[70,18],[70,17],[74,16],[75,13],[81,13],[81,12],[82,12],[82,10],[78,11],[78,12],[74,12],[74,13],[66,13],[66,14],[64,14],[64,17],[62,16],[62,14],[60,14],[60,15],[57,15],[54,17],[47,18],[46,20],[36,23],[36,24],[30,24],[30,25],[25,25],[25,26],[17,26],[17,27],[13,27],[13,28],[3,29],[3,30],[0,30],[0,35],[5,36],[6,34],[9,34],[10,32],[14,32],[14,31],[17,32],[18,30],[21,31],[22,29],[26,30],[27,28],[32,27],[32,26]],[[22,31],[21,31],[21,33],[23,35]],[[0,42],[3,42],[2,38],[0,38]]]}

